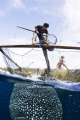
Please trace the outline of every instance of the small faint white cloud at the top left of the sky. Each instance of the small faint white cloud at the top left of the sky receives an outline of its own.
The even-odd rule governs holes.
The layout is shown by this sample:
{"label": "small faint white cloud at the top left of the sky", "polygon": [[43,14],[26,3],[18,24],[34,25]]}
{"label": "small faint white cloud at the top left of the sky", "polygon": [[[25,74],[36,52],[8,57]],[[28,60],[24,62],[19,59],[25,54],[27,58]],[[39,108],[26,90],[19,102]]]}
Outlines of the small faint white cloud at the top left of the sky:
{"label": "small faint white cloud at the top left of the sky", "polygon": [[20,9],[20,8],[25,9],[25,5],[21,0],[10,0],[10,2],[11,2],[11,6],[16,9]]}

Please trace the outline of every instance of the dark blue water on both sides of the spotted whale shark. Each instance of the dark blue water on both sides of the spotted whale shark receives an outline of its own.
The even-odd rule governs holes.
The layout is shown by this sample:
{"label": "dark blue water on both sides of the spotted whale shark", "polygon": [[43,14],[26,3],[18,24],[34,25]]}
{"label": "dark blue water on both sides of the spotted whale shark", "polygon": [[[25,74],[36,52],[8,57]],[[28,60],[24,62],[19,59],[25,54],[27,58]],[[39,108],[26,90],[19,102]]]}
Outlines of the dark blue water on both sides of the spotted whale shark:
{"label": "dark blue water on both sides of the spotted whale shark", "polygon": [[[0,120],[11,120],[9,103],[13,86],[10,82],[0,81]],[[62,120],[80,120],[80,92],[59,88],[55,88],[55,90],[62,104]]]}

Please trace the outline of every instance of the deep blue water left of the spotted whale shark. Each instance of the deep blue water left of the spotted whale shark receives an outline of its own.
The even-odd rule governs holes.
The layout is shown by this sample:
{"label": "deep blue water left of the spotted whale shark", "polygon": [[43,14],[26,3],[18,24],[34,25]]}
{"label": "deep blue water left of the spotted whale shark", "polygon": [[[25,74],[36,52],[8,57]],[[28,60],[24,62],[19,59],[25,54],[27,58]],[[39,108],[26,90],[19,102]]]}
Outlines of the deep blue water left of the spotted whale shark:
{"label": "deep blue water left of the spotted whale shark", "polygon": [[0,120],[11,120],[9,103],[13,86],[10,82],[0,81]]}

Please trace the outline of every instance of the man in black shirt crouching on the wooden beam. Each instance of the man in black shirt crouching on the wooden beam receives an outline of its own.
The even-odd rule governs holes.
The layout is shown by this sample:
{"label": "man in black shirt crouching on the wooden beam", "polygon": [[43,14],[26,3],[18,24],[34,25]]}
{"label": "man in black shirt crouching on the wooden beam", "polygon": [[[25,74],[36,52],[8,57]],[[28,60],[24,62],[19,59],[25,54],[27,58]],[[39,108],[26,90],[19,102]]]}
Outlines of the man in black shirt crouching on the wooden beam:
{"label": "man in black shirt crouching on the wooden beam", "polygon": [[[33,33],[32,44],[35,44],[37,36],[39,38],[39,43],[41,43],[43,40],[46,40],[48,42],[49,40],[49,35],[47,30],[48,27],[49,27],[48,23],[44,23],[43,26],[41,25],[35,26],[35,32]],[[46,34],[46,37],[43,35],[43,33]]]}

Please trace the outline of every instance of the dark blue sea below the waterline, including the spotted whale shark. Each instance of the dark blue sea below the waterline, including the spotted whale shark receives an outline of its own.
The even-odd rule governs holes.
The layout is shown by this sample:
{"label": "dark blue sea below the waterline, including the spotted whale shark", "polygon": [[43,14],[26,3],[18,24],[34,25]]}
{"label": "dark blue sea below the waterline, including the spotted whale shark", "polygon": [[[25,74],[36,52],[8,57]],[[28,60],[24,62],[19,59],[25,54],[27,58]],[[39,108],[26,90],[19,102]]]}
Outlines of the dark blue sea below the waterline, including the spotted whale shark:
{"label": "dark blue sea below the waterline, including the spotted whale shark", "polygon": [[68,90],[17,80],[0,75],[0,120],[80,120],[80,92],[74,86]]}

